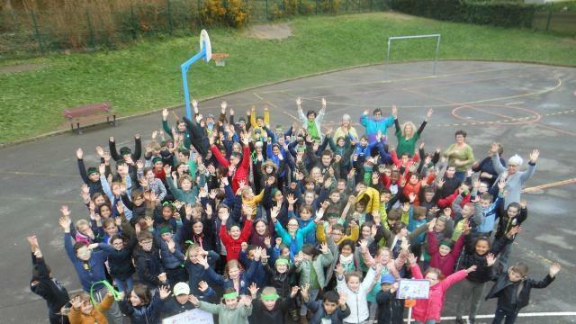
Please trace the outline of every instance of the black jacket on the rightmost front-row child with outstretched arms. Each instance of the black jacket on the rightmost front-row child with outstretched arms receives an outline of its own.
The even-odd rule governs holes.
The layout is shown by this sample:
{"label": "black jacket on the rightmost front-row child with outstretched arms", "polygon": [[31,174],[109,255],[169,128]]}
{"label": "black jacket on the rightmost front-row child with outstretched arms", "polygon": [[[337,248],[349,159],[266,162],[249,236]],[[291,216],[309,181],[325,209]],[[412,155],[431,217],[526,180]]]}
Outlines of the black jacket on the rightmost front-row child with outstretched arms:
{"label": "black jacket on the rightmost front-row child with outstretched arms", "polygon": [[[508,272],[493,276],[492,279],[496,281],[496,284],[492,286],[490,293],[486,296],[486,300],[498,297],[498,307],[509,311],[519,311],[526,307],[528,302],[530,302],[530,291],[532,288],[546,288],[554,281],[554,277],[546,275],[544,280],[541,281],[527,278],[518,282],[519,284],[512,283],[509,280]],[[519,293],[514,285],[518,285]],[[514,293],[518,293],[517,298],[513,295]],[[515,299],[516,302],[514,302]]]}

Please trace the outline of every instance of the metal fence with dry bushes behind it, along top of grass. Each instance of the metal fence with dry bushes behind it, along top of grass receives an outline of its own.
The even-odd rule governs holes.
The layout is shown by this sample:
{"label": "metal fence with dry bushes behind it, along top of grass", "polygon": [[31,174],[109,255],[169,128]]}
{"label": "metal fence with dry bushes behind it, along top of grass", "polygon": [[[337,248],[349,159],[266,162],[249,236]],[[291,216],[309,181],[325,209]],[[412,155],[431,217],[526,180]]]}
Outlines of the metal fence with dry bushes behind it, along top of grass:
{"label": "metal fence with dry bushes behind it, along top of grass", "polygon": [[[220,1],[224,7],[229,0]],[[384,11],[389,0],[239,0],[247,23],[294,15]],[[124,10],[84,6],[0,12],[0,59],[42,56],[64,50],[115,49],[140,37],[196,34],[202,10],[214,0],[160,0]],[[231,3],[231,1],[230,1]]]}

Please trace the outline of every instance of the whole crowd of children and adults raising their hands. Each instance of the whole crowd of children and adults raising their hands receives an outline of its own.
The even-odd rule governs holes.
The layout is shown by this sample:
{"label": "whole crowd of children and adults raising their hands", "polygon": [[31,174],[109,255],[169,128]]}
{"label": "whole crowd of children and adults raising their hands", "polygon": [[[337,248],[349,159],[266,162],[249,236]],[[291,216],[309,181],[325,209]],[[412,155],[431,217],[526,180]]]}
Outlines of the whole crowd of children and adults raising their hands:
{"label": "whole crowd of children and adults raising their hands", "polygon": [[476,161],[464,130],[427,151],[432,110],[418,129],[395,106],[365,111],[360,135],[348,114],[323,126],[325,100],[306,114],[296,103],[288,129],[271,128],[266,107],[238,118],[224,102],[214,118],[194,102],[175,128],[162,112],[143,152],[138,134],[133,149],[110,138],[86,167],[78,148],[86,212],[62,206],[58,224],[83,293],[69,296],[28,238],[31,291],[50,322],[152,324],[199,309],[222,324],[402,323],[401,280],[425,279],[416,322],[440,322],[450,293],[457,323],[491,298],[493,323],[513,323],[530,290],[554,281],[559,264],[542,281],[508,265],[538,150],[521,171],[523,158],[505,160],[499,143]]}

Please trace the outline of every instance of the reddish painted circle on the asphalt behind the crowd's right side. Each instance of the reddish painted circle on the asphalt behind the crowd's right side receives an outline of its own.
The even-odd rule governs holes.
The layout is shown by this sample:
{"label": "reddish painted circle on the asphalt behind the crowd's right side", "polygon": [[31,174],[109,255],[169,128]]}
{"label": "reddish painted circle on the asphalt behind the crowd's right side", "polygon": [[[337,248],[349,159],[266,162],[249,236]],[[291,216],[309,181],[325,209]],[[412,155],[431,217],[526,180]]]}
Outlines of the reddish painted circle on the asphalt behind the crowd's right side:
{"label": "reddish painted circle on the asphalt behind the crowd's right side", "polygon": [[[483,108],[483,109],[482,109]],[[494,112],[495,109],[499,110]],[[481,121],[473,118],[466,117],[462,114],[465,109],[472,109],[475,111],[483,111],[486,116],[493,116],[494,118]],[[489,109],[489,110],[488,110]],[[509,112],[508,114],[506,112]],[[520,112],[520,116],[518,116]],[[514,113],[515,116],[510,116],[510,113]],[[523,125],[529,124],[542,119],[542,115],[531,109],[508,106],[505,104],[466,104],[456,107],[452,110],[452,115],[461,120],[469,123],[480,123],[480,124],[497,124],[497,125]]]}

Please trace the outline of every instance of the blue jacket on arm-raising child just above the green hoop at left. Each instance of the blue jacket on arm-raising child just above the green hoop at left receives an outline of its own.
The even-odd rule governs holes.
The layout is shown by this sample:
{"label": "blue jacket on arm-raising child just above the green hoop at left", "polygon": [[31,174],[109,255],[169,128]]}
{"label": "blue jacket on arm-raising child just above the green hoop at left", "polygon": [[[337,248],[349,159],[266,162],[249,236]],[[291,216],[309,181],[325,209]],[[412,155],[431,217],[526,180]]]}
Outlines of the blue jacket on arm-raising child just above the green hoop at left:
{"label": "blue jacket on arm-raising child just above the green hoop at left", "polygon": [[[76,274],[78,279],[80,279],[80,284],[82,284],[82,289],[85,292],[90,292],[90,287],[92,284],[106,280],[106,275],[104,272],[104,261],[106,261],[106,254],[104,251],[92,251],[92,257],[87,262],[80,260],[76,257],[76,252],[72,246],[72,237],[70,233],[64,233],[64,248],[66,248],[66,253],[72,265],[76,269]],[[94,290],[103,288],[103,284],[97,284],[94,286]]]}

